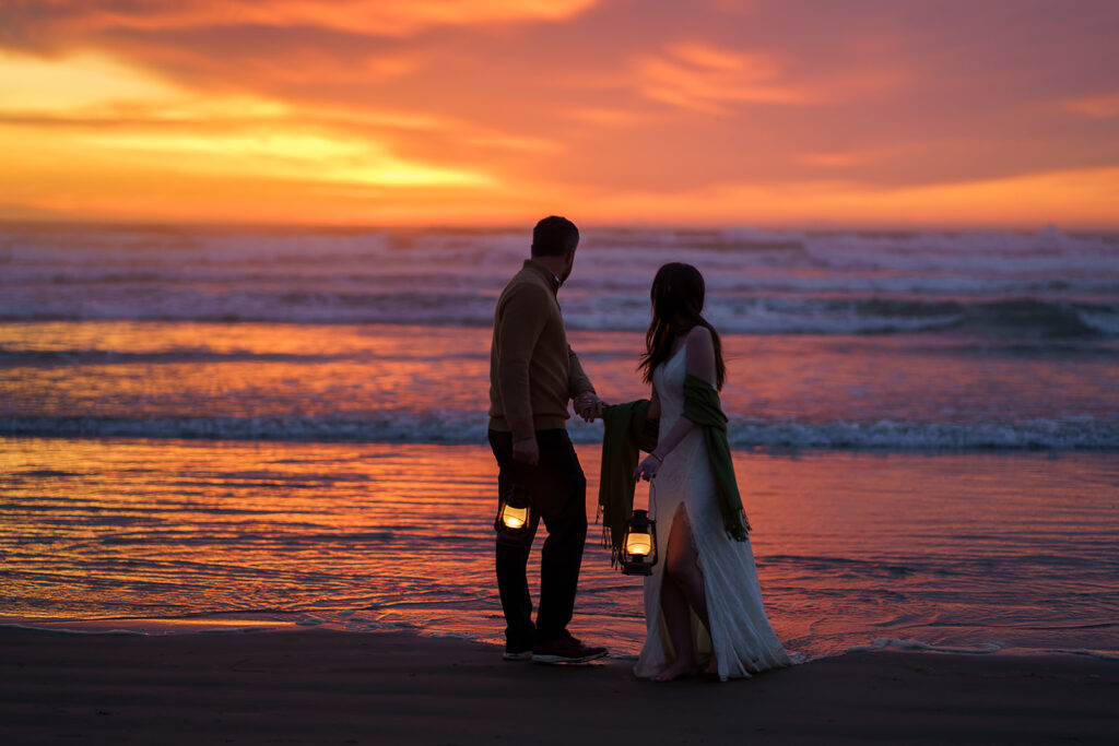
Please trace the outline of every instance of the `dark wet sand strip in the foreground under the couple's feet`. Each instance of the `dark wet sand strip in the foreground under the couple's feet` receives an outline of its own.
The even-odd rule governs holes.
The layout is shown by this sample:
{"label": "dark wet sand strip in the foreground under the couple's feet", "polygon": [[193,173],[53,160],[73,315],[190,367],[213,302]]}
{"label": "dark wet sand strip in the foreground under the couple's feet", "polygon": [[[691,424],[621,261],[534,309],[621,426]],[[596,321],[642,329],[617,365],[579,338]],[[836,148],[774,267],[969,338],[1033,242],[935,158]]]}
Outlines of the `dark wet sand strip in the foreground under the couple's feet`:
{"label": "dark wet sand strip in the foreground under the couple's feet", "polygon": [[848,654],[717,683],[404,634],[0,630],[3,744],[1119,743],[1119,663]]}

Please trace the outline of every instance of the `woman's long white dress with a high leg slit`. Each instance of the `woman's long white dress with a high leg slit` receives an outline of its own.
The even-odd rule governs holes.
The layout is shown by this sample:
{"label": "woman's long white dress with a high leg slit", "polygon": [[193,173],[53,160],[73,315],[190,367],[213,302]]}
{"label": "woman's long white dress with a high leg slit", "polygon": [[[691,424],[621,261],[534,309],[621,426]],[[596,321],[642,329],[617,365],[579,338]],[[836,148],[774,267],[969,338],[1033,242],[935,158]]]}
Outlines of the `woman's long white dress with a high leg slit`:
{"label": "woman's long white dress with a high leg slit", "polygon": [[[684,413],[686,357],[681,347],[652,374],[660,398],[661,436]],[[653,677],[676,659],[660,608],[660,585],[673,519],[681,504],[687,511],[699,555],[711,620],[708,635],[696,614],[692,614],[692,639],[697,658],[700,662],[706,661],[714,649],[718,677],[724,681],[789,665],[792,661],[765,617],[750,541],[735,541],[723,528],[704,433],[697,427],[665,456],[651,482],[649,507],[657,521],[657,554],[661,561],[645,579],[647,635],[633,672],[639,677]]]}

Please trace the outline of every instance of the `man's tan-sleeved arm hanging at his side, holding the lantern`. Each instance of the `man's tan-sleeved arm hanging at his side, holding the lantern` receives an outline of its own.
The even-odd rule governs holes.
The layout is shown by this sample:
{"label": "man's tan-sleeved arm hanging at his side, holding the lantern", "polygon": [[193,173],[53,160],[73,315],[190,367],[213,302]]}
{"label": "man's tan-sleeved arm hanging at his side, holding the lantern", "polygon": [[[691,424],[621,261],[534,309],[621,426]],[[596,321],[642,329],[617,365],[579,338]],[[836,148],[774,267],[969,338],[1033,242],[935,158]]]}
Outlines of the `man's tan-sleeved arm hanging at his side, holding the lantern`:
{"label": "man's tan-sleeved arm hanging at his side, holding the lantern", "polygon": [[499,314],[497,340],[497,384],[513,441],[536,441],[533,404],[529,396],[528,365],[544,330],[546,302],[544,290],[520,285],[510,290]]}

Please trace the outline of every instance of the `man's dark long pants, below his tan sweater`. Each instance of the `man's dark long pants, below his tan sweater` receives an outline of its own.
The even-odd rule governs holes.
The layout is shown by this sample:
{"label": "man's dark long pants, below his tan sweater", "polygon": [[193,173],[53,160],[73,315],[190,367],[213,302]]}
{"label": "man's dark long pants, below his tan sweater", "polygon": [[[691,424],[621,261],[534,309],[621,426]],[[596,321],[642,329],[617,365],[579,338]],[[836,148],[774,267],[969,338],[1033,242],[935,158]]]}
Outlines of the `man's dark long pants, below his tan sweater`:
{"label": "man's dark long pants, below his tan sweater", "polygon": [[[516,541],[498,536],[497,541],[497,587],[505,611],[506,644],[514,651],[529,650],[561,636],[574,612],[586,541],[586,478],[566,429],[536,431],[540,451],[536,466],[514,461],[511,433],[491,429],[489,442],[500,469],[500,494],[517,480],[527,489],[532,506],[525,536]],[[526,568],[542,518],[548,537],[540,550],[540,608],[534,626]]]}

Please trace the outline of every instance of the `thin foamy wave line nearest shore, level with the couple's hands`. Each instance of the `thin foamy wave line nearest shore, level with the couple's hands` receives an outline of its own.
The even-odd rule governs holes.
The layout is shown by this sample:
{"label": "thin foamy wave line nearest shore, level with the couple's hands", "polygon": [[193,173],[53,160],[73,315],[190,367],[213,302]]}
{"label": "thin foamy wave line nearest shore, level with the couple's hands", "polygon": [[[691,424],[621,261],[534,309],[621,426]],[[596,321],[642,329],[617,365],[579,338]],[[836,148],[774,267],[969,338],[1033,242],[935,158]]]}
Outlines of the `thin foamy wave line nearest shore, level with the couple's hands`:
{"label": "thin foamy wave line nearest shore, level with the couple's hands", "polygon": [[[487,419],[477,413],[388,413],[352,417],[0,417],[0,435],[231,441],[483,444]],[[570,431],[576,443],[602,441],[601,424]],[[1013,423],[799,423],[734,421],[736,450],[875,452],[1119,451],[1119,422],[1081,415]]]}

